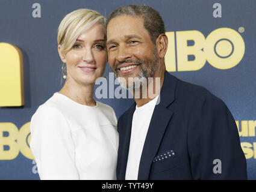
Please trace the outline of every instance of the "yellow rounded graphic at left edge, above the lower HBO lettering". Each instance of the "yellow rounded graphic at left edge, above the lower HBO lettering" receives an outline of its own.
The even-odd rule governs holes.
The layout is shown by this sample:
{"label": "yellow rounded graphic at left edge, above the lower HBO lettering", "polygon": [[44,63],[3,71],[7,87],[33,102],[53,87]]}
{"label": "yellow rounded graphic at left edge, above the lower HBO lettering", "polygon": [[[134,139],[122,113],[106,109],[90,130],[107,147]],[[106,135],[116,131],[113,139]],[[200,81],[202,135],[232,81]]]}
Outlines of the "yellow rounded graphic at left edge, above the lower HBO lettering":
{"label": "yellow rounded graphic at left edge, above the lower HBO lettering", "polygon": [[0,43],[0,106],[24,105],[23,57],[11,44]]}

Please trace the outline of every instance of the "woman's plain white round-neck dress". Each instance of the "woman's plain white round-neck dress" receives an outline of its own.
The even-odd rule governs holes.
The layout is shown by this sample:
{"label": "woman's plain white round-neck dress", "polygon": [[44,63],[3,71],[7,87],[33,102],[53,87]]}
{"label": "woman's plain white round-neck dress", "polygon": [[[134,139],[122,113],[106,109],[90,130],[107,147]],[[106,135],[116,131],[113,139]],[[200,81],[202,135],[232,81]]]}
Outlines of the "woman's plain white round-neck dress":
{"label": "woman's plain white round-neck dress", "polygon": [[114,110],[55,93],[31,118],[30,148],[40,179],[116,179]]}

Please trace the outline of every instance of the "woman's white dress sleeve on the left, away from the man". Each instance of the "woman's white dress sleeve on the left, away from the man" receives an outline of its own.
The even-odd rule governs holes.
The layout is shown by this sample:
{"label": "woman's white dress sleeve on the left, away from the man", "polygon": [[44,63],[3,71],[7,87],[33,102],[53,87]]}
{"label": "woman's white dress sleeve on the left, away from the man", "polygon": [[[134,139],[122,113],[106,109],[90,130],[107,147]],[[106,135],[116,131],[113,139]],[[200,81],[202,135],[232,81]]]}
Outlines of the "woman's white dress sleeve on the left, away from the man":
{"label": "woman's white dress sleeve on the left, away from the man", "polygon": [[80,179],[72,135],[60,110],[40,107],[31,118],[30,130],[40,179]]}

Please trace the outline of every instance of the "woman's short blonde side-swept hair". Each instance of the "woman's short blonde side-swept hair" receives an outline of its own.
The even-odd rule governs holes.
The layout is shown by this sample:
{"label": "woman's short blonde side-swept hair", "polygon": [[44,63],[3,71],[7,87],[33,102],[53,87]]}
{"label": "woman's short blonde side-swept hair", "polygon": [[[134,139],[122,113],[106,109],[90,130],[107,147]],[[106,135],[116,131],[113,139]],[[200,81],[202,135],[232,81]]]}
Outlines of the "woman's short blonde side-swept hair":
{"label": "woman's short blonde side-swept hair", "polygon": [[67,14],[63,20],[61,20],[60,26],[58,26],[57,41],[61,47],[61,54],[66,55],[78,36],[95,23],[101,23],[105,32],[105,21],[105,17],[97,11],[85,8]]}

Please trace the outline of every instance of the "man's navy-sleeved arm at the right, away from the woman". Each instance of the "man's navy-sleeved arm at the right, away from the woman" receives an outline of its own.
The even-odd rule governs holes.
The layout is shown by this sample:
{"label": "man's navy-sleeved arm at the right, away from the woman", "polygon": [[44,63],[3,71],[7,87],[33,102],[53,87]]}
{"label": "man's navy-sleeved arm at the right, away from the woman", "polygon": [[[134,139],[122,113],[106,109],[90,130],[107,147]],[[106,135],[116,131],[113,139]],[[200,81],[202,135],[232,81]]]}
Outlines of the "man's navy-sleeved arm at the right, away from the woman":
{"label": "man's navy-sleeved arm at the right, away from the woman", "polygon": [[192,109],[188,133],[194,179],[247,179],[237,125],[222,100],[202,95]]}

